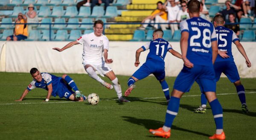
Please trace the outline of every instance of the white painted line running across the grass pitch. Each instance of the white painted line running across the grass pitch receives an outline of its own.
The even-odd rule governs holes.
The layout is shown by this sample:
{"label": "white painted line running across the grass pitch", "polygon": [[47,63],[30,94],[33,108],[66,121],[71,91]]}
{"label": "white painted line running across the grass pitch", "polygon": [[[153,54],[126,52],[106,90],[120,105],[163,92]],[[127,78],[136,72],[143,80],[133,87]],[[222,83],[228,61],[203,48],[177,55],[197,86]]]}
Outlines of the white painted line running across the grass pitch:
{"label": "white painted line running across the grass pitch", "polygon": [[[256,93],[253,92],[246,92],[246,94],[253,94]],[[237,93],[220,93],[217,95],[232,95]],[[184,95],[182,97],[194,97],[194,96],[201,96],[201,95]],[[140,100],[140,99],[157,99],[157,98],[165,98],[165,97],[152,97],[152,98],[134,98],[132,100]],[[118,99],[101,99],[105,101],[111,101],[111,100],[118,100]],[[61,102],[41,102],[41,103],[6,103],[6,104],[0,104],[0,105],[12,105],[12,104],[54,104],[54,103],[75,103],[76,101],[61,101]]]}

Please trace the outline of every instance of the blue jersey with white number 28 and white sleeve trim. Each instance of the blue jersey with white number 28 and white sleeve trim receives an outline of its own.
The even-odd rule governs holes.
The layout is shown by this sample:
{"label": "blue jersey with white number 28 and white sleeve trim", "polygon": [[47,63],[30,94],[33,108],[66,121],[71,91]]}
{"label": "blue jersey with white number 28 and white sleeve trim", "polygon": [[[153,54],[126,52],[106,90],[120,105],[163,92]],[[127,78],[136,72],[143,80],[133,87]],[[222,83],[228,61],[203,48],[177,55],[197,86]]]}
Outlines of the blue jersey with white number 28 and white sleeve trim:
{"label": "blue jersey with white number 28 and white sleeve trim", "polygon": [[212,41],[217,40],[214,26],[201,17],[180,22],[181,33],[189,32],[186,57],[193,64],[212,65]]}

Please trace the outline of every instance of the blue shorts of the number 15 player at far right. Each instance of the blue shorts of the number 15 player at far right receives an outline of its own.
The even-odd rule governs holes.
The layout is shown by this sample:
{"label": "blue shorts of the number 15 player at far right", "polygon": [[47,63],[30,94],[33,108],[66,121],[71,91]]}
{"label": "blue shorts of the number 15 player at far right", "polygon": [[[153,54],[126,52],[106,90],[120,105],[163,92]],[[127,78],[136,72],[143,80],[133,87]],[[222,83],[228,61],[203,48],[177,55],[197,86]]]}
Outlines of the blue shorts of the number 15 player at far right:
{"label": "blue shorts of the number 15 player at far right", "polygon": [[240,80],[236,64],[233,61],[215,62],[213,67],[216,82],[219,81],[221,73],[224,73],[232,83]]}

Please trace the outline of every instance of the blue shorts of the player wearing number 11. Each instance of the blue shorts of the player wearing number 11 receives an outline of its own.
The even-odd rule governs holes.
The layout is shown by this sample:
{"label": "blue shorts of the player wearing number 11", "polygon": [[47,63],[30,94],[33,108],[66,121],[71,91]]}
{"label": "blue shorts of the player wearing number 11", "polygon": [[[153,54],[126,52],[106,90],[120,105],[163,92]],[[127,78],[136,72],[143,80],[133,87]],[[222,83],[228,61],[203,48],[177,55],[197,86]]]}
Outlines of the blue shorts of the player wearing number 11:
{"label": "blue shorts of the player wearing number 11", "polygon": [[148,59],[132,76],[141,80],[150,74],[154,74],[157,80],[165,78],[164,62]]}

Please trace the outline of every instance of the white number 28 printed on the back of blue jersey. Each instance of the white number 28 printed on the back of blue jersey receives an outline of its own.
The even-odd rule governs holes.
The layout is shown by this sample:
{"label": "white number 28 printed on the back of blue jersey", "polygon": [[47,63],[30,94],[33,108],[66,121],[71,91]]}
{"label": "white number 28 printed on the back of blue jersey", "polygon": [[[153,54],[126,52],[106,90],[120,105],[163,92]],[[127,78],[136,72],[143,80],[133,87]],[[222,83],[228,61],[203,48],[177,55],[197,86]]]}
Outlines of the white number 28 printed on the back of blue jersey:
{"label": "white number 28 printed on the back of blue jersey", "polygon": [[[201,47],[200,42],[195,42],[194,41],[195,39],[199,39],[201,37],[201,31],[197,27],[192,27],[192,31],[196,31],[197,34],[191,36],[190,46]],[[208,33],[208,35],[206,33]],[[203,43],[204,47],[206,47],[206,48],[211,48],[211,46],[212,46],[210,35],[211,35],[211,31],[209,29],[206,28],[206,29],[203,30],[203,41],[202,41],[202,43]],[[206,42],[207,40],[209,40],[209,44],[207,44],[207,42]]]}

